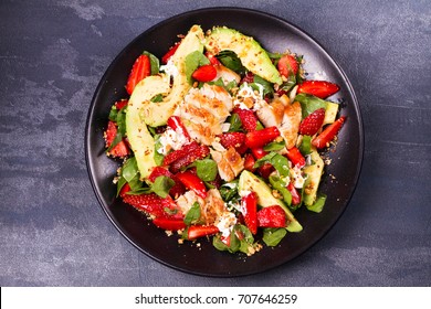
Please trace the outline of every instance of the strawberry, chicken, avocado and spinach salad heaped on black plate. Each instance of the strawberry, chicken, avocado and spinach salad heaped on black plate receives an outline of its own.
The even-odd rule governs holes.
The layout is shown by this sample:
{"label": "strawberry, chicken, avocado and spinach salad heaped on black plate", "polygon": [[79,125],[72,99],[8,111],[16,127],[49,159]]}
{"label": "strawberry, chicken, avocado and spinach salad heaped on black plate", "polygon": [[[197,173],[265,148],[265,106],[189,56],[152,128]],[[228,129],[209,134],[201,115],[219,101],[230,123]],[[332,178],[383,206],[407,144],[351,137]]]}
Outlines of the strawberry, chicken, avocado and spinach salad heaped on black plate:
{"label": "strawberry, chicken, avocado and spinach salad heaped on black plate", "polygon": [[180,38],[161,58],[136,58],[111,108],[117,198],[179,243],[210,238],[246,255],[276,246],[303,230],[299,207],[324,207],[323,153],[346,120],[328,100],[339,86],[306,79],[302,55],[234,29],[193,25]]}

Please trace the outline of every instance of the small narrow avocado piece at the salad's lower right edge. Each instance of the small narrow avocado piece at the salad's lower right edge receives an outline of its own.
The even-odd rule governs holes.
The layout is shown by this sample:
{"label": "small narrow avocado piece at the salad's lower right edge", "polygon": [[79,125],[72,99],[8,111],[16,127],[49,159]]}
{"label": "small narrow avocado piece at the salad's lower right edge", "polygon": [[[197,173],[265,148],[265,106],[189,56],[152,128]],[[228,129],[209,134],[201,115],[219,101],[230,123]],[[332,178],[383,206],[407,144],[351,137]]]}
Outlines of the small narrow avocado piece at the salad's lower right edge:
{"label": "small narrow avocado piece at the salad's lower right edge", "polygon": [[313,164],[306,166],[304,168],[304,173],[307,175],[304,188],[304,204],[306,206],[311,206],[316,202],[317,189],[318,184],[320,183],[320,178],[324,170],[324,161],[322,160],[317,150],[312,149],[312,153],[309,156],[312,157]]}

